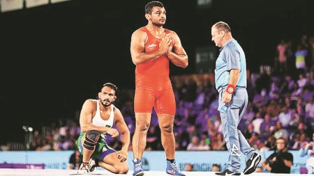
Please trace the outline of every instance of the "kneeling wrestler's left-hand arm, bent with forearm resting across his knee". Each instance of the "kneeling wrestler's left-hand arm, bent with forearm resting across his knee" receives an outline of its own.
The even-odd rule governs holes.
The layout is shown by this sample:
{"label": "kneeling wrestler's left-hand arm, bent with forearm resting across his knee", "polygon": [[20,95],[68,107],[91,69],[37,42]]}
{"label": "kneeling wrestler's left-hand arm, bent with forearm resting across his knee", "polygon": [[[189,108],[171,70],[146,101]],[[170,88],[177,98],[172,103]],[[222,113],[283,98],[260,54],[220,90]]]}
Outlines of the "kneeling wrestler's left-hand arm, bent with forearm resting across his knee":
{"label": "kneeling wrestler's left-hand arm, bent with forearm resting across his knee", "polygon": [[[112,137],[116,137],[119,135],[117,130],[111,130],[108,127],[98,127],[96,125],[93,125],[91,123],[91,119],[93,118],[93,112],[94,109],[96,110],[96,106],[97,106],[98,102],[93,102],[91,99],[87,99],[83,106],[82,106],[82,110],[80,113],[80,127],[81,127],[81,131],[86,132],[89,130],[97,130],[100,132],[105,132],[108,133],[110,135],[112,135]],[[116,132],[117,131],[117,132]]]}

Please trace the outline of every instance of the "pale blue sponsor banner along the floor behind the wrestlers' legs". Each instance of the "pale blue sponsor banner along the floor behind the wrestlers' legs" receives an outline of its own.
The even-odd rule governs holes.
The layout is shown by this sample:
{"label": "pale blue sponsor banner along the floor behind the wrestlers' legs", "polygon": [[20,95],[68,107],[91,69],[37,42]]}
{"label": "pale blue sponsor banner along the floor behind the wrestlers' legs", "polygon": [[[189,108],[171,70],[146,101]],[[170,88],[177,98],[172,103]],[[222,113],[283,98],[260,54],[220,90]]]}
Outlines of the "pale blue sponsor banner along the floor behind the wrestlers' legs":
{"label": "pale blue sponsor banner along the floor behind the wrestlers' legs", "polygon": [[[0,152],[0,166],[4,163],[11,164],[32,164],[33,166],[45,165],[45,169],[67,169],[70,155],[74,151],[5,151]],[[258,152],[262,156],[262,161],[266,159],[274,151]],[[299,174],[304,169],[307,157],[300,157],[298,150],[290,150],[293,154],[292,174]],[[14,157],[13,157],[14,156]],[[220,170],[227,168],[227,159],[229,153],[227,151],[177,151],[176,162],[180,170],[185,170],[186,165],[192,164],[195,171],[211,171],[214,163],[220,165]],[[133,152],[128,152],[128,166],[133,170]],[[246,159],[241,154],[241,170],[246,167]],[[1,165],[1,163],[3,165]],[[166,168],[166,157],[164,151],[145,151],[143,154],[142,165],[144,170],[163,171]],[[27,165],[21,165],[27,166]],[[102,168],[97,168],[102,170]]]}

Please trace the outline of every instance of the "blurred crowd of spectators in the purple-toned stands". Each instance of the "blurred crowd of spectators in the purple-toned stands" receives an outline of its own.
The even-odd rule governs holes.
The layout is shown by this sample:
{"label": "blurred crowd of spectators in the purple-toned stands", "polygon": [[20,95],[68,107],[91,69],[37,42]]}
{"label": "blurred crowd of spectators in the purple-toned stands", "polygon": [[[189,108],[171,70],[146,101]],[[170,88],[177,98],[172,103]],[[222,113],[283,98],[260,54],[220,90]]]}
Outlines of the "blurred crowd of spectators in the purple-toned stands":
{"label": "blurred crowd of spectators in the purple-toned stands", "polygon": [[[292,44],[278,44],[274,65],[248,73],[249,103],[239,129],[259,151],[273,150],[276,138],[285,138],[289,150],[311,141],[314,131],[314,38],[303,35]],[[292,47],[296,46],[296,47]],[[295,48],[295,49],[294,49]],[[227,150],[217,111],[218,93],[211,74],[172,77],[177,99],[174,122],[176,150]],[[134,90],[119,90],[115,105],[121,110],[133,136]],[[78,118],[61,119],[34,129],[26,139],[28,150],[75,150],[80,134]],[[119,139],[107,136],[112,147]],[[132,145],[130,145],[129,150]],[[147,134],[146,150],[163,150],[156,113]]]}

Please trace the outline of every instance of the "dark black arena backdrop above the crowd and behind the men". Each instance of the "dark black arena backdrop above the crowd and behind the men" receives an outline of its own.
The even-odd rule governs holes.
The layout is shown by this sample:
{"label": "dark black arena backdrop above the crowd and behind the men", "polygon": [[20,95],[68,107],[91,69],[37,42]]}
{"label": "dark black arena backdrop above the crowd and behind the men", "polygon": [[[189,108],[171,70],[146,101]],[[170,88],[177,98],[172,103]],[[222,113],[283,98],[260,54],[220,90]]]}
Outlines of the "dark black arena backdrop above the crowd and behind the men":
{"label": "dark black arena backdrop above the crowd and behind the men", "polygon": [[[17,3],[17,9],[12,2]],[[31,2],[34,3],[1,0],[0,145],[6,149],[10,148],[8,143],[29,143],[29,127],[31,135],[36,136],[33,134],[36,131],[40,138],[66,125],[75,130],[84,100],[96,98],[103,83],[118,86],[120,109],[132,102],[135,65],[130,58],[130,36],[147,24],[144,6],[148,1],[144,0],[47,0],[33,6]],[[294,69],[284,73],[276,69],[277,45],[281,40],[290,41],[294,52],[304,36],[309,43],[314,34],[314,1],[161,2],[167,10],[164,27],[178,33],[189,58],[186,69],[170,65],[171,77],[213,73],[218,48],[211,41],[210,29],[214,23],[224,21],[244,48],[249,74],[257,74],[252,77],[254,80],[264,72],[269,76],[291,75],[296,82],[299,79],[293,67],[295,58]],[[307,64],[311,67],[313,60]],[[184,84],[184,79],[181,80],[175,82],[178,91]],[[253,88],[252,93],[259,92]],[[252,102],[254,95],[250,95]],[[125,116],[130,116],[129,122],[133,122],[132,106]]]}

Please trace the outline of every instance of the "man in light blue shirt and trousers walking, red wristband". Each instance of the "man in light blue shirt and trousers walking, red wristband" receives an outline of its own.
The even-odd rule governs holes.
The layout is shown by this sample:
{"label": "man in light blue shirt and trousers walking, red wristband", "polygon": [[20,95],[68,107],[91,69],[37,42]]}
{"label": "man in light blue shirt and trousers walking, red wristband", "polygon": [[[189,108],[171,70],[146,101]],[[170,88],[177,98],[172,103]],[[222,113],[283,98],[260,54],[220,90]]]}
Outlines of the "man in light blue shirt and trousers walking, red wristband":
{"label": "man in light blue shirt and trousers walking, red wristband", "polygon": [[223,125],[223,138],[230,153],[227,169],[216,175],[241,175],[241,152],[246,156],[244,175],[248,175],[255,171],[261,157],[237,129],[248,105],[246,57],[225,22],[217,22],[211,27],[211,40],[220,47],[215,83],[219,93],[218,111]]}

